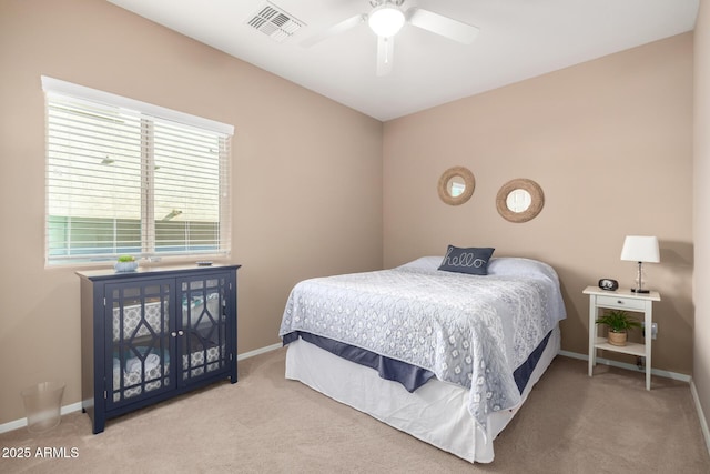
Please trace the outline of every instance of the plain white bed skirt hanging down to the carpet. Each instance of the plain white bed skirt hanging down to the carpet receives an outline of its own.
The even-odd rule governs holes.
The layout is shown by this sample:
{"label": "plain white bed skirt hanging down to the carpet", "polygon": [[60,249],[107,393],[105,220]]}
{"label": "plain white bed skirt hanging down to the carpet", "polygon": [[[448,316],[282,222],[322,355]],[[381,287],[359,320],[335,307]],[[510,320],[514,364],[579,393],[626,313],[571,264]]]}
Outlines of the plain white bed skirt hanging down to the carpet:
{"label": "plain white bed skirt hanging down to the carpet", "polygon": [[[557,326],[523,391],[523,403],[559,349]],[[286,379],[300,381],[471,463],[493,461],[493,441],[523,404],[491,414],[488,433],[483,433],[468,412],[466,389],[433,379],[410,393],[399,383],[381,379],[373,369],[341,359],[303,340],[288,344]]]}

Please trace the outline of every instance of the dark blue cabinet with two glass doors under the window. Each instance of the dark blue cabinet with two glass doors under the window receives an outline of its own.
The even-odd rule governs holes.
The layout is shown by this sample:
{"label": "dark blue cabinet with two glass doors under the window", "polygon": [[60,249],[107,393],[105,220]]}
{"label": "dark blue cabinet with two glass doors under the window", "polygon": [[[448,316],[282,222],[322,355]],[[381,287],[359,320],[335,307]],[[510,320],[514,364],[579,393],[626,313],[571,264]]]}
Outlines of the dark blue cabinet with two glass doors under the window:
{"label": "dark blue cabinet with two glass doors under the window", "polygon": [[77,272],[82,409],[106,420],[229,377],[236,382],[240,265]]}

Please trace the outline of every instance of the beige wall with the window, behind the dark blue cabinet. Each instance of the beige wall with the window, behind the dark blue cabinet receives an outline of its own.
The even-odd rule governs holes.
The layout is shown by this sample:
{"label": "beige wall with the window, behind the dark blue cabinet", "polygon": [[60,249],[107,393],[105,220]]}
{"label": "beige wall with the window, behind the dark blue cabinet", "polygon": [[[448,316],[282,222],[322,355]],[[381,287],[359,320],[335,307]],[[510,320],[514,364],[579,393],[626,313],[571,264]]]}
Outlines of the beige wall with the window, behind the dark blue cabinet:
{"label": "beige wall with the window, behind the dark blue cabinet", "polygon": [[43,261],[41,74],[235,127],[239,353],[278,342],[296,281],[382,268],[379,121],[109,2],[2,0],[0,424],[40,381],[80,400],[79,279]]}

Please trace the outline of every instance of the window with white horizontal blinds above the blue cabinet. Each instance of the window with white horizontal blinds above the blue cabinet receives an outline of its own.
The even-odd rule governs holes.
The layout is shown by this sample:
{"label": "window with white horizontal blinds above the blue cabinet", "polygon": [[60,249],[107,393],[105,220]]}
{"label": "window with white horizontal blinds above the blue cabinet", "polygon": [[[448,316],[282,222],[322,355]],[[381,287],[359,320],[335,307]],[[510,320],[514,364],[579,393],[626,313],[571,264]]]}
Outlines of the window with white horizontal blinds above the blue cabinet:
{"label": "window with white horizontal blinds above the blue cabinet", "polygon": [[47,263],[230,252],[233,128],[51,78]]}

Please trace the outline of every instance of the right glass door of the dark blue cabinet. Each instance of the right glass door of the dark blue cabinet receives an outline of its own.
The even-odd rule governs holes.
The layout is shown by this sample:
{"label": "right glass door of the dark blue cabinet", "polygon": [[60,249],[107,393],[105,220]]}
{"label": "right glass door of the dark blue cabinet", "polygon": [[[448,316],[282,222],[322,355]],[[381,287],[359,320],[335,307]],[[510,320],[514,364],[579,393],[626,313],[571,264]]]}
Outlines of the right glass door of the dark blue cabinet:
{"label": "right glass door of the dark blue cabinet", "polygon": [[229,274],[191,278],[180,283],[182,317],[179,317],[180,379],[193,380],[227,370],[227,317],[225,292]]}

